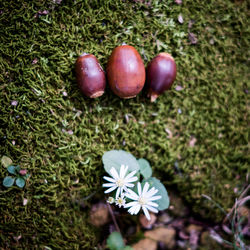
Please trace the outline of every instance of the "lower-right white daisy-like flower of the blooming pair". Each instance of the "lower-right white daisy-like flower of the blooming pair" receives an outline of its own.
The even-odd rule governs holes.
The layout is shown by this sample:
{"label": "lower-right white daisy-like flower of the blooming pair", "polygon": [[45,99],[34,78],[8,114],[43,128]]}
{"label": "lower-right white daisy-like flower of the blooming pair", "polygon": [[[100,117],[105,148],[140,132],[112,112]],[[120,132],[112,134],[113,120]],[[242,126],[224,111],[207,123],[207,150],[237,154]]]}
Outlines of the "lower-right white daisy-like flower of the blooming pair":
{"label": "lower-right white daisy-like flower of the blooming pair", "polygon": [[145,183],[143,190],[141,188],[141,183],[138,182],[137,183],[138,194],[129,189],[125,195],[129,199],[134,201],[125,204],[124,207],[125,208],[130,207],[128,212],[132,215],[138,214],[138,212],[142,208],[146,218],[150,220],[150,215],[148,210],[154,213],[158,213],[158,210],[156,209],[156,207],[158,207],[158,204],[152,201],[161,199],[161,196],[160,195],[154,196],[158,192],[158,189],[152,187],[150,190],[148,190],[148,188],[149,188],[148,182]]}

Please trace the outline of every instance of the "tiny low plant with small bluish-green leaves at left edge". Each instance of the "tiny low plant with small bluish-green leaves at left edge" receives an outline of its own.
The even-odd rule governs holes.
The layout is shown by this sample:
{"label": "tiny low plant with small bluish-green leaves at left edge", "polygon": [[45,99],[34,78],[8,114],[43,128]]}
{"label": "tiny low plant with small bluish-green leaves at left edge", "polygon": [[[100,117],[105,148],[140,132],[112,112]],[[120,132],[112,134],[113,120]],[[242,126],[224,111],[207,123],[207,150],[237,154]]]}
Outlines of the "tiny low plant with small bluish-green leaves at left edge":
{"label": "tiny low plant with small bluish-green leaves at left edge", "polygon": [[6,160],[6,159],[7,157],[5,156],[2,158],[2,164],[4,167],[7,167],[7,171],[12,176],[6,176],[3,179],[3,185],[8,188],[8,187],[12,187],[14,183],[16,183],[16,185],[19,188],[23,188],[25,186],[27,178],[30,175],[27,173],[26,169],[21,169],[20,166],[18,165],[17,166],[12,165],[12,161]]}

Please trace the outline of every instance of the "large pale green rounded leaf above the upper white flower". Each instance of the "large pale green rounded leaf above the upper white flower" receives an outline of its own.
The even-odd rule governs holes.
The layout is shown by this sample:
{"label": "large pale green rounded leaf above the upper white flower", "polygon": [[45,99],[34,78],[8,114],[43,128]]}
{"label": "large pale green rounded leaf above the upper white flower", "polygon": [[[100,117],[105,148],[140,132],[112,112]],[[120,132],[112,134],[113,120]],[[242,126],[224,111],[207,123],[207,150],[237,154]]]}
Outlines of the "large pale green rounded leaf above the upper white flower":
{"label": "large pale green rounded leaf above the upper white flower", "polygon": [[102,162],[104,164],[104,169],[107,173],[110,173],[110,169],[114,167],[118,173],[120,172],[121,165],[128,166],[128,171],[139,171],[140,166],[136,158],[123,150],[111,150],[105,152],[102,156]]}

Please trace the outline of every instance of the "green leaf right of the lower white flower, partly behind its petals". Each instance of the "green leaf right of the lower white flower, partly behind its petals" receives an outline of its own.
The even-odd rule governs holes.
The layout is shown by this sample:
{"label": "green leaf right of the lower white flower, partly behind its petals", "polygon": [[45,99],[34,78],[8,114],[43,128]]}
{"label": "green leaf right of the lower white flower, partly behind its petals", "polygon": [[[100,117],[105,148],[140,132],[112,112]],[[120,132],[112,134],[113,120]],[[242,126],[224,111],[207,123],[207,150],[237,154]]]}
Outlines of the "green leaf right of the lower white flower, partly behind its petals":
{"label": "green leaf right of the lower white flower, partly behind its petals", "polygon": [[156,189],[158,189],[158,192],[156,193],[156,195],[161,196],[160,200],[154,201],[155,203],[157,203],[159,205],[159,207],[157,209],[158,210],[167,209],[169,207],[169,197],[168,197],[168,192],[167,192],[166,188],[164,187],[164,185],[155,177],[150,177],[148,179],[144,179],[142,181],[143,186],[146,182],[149,183],[150,187],[155,187]]}

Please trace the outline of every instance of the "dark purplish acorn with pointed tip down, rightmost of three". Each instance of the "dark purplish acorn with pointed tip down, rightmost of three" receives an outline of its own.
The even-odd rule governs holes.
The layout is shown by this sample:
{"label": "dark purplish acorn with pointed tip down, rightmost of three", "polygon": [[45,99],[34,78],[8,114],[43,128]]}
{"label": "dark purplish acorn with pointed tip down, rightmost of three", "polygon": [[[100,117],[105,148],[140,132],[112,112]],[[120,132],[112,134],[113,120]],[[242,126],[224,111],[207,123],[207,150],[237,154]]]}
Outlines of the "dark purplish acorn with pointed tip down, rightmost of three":
{"label": "dark purplish acorn with pointed tip down, rightmost of three", "polygon": [[168,53],[160,53],[147,66],[148,96],[154,102],[159,95],[171,88],[176,78],[176,63]]}

